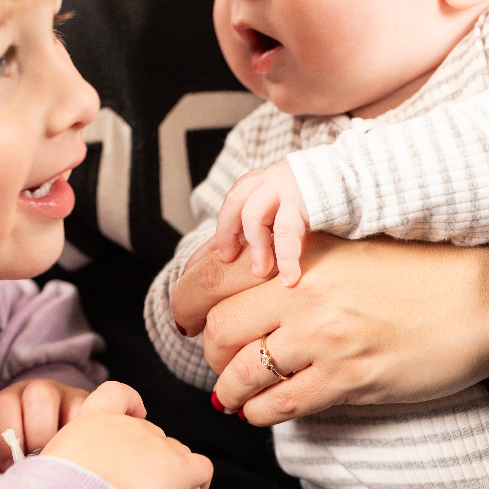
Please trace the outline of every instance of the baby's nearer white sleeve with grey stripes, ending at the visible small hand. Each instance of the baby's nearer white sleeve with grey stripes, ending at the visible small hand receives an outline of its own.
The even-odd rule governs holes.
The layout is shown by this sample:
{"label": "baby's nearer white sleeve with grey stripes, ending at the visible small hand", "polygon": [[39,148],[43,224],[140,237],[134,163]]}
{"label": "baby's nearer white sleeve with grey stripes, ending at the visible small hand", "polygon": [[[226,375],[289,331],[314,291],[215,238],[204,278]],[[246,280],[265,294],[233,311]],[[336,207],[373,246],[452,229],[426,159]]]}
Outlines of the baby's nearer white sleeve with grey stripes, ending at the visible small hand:
{"label": "baby's nearer white sleeve with grey stripes, ending at the visible small hand", "polygon": [[291,153],[312,230],[489,241],[489,91]]}

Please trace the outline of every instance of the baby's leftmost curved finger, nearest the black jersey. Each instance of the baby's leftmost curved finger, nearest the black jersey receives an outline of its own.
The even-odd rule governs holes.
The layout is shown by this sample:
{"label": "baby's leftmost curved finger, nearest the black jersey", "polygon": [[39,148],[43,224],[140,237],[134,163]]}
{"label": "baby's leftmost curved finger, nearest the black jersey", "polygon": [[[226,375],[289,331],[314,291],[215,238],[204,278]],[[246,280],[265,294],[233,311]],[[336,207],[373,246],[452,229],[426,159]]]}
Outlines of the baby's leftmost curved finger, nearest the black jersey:
{"label": "baby's leftmost curved finger, nearest the black jersey", "polygon": [[241,211],[248,197],[263,184],[263,171],[254,170],[239,178],[222,203],[216,228],[216,243],[218,257],[224,262],[234,260],[241,249]]}

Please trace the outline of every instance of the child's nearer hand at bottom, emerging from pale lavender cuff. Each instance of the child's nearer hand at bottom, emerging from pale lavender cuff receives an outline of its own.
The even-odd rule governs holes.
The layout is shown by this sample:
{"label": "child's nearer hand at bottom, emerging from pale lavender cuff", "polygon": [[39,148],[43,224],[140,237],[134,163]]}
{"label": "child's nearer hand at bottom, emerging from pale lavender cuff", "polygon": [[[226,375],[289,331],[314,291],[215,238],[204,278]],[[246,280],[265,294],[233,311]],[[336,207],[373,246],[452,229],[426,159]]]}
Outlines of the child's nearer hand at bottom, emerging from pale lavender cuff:
{"label": "child's nearer hand at bottom, emerging from pale lavender cuff", "polygon": [[167,438],[142,419],[145,416],[136,391],[106,382],[90,394],[79,415],[54,436],[40,457],[75,462],[117,489],[208,489],[211,461]]}

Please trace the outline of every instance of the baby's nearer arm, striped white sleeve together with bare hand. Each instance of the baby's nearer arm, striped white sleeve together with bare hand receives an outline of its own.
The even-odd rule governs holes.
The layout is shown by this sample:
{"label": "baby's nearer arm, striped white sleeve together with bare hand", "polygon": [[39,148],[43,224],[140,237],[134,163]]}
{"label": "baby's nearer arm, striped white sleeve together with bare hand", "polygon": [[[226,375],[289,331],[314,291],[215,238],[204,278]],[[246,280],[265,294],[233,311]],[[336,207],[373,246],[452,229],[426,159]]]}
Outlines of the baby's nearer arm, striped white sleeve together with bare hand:
{"label": "baby's nearer arm, striped white sleeve together with bare hand", "polygon": [[383,232],[460,246],[489,241],[489,91],[368,133],[345,131],[287,159],[245,175],[226,197],[216,232],[224,261],[244,233],[255,274],[266,276],[272,224],[289,286],[300,277],[307,227],[348,239]]}

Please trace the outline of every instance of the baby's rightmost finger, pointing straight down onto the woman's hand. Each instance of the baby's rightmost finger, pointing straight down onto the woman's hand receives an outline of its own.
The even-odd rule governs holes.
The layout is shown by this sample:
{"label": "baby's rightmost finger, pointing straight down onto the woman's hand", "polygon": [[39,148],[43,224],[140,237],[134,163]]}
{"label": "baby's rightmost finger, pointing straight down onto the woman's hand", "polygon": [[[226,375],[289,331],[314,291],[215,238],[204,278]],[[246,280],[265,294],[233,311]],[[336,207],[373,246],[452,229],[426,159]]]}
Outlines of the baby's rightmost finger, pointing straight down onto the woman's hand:
{"label": "baby's rightmost finger, pointing straight down onto the woman's hand", "polygon": [[301,276],[299,258],[301,238],[306,232],[306,224],[300,211],[292,203],[282,202],[273,225],[275,256],[281,274],[281,283],[294,286]]}

